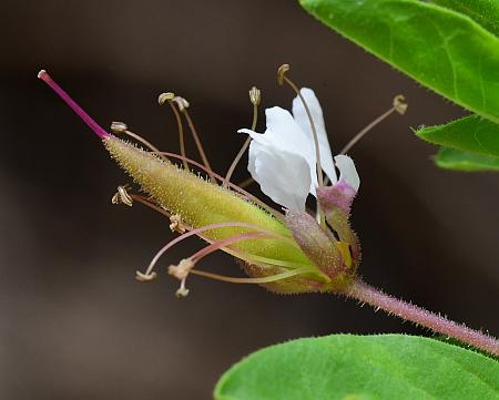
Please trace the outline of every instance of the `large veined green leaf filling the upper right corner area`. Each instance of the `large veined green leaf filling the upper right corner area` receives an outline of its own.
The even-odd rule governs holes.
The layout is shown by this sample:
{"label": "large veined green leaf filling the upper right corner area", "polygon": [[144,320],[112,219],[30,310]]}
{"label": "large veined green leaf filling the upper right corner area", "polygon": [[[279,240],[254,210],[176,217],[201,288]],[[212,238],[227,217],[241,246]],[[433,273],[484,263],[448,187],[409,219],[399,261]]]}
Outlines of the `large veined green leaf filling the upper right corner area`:
{"label": "large veined green leaf filling the upper right corner area", "polygon": [[499,123],[499,39],[419,0],[301,0],[332,29],[418,82]]}

